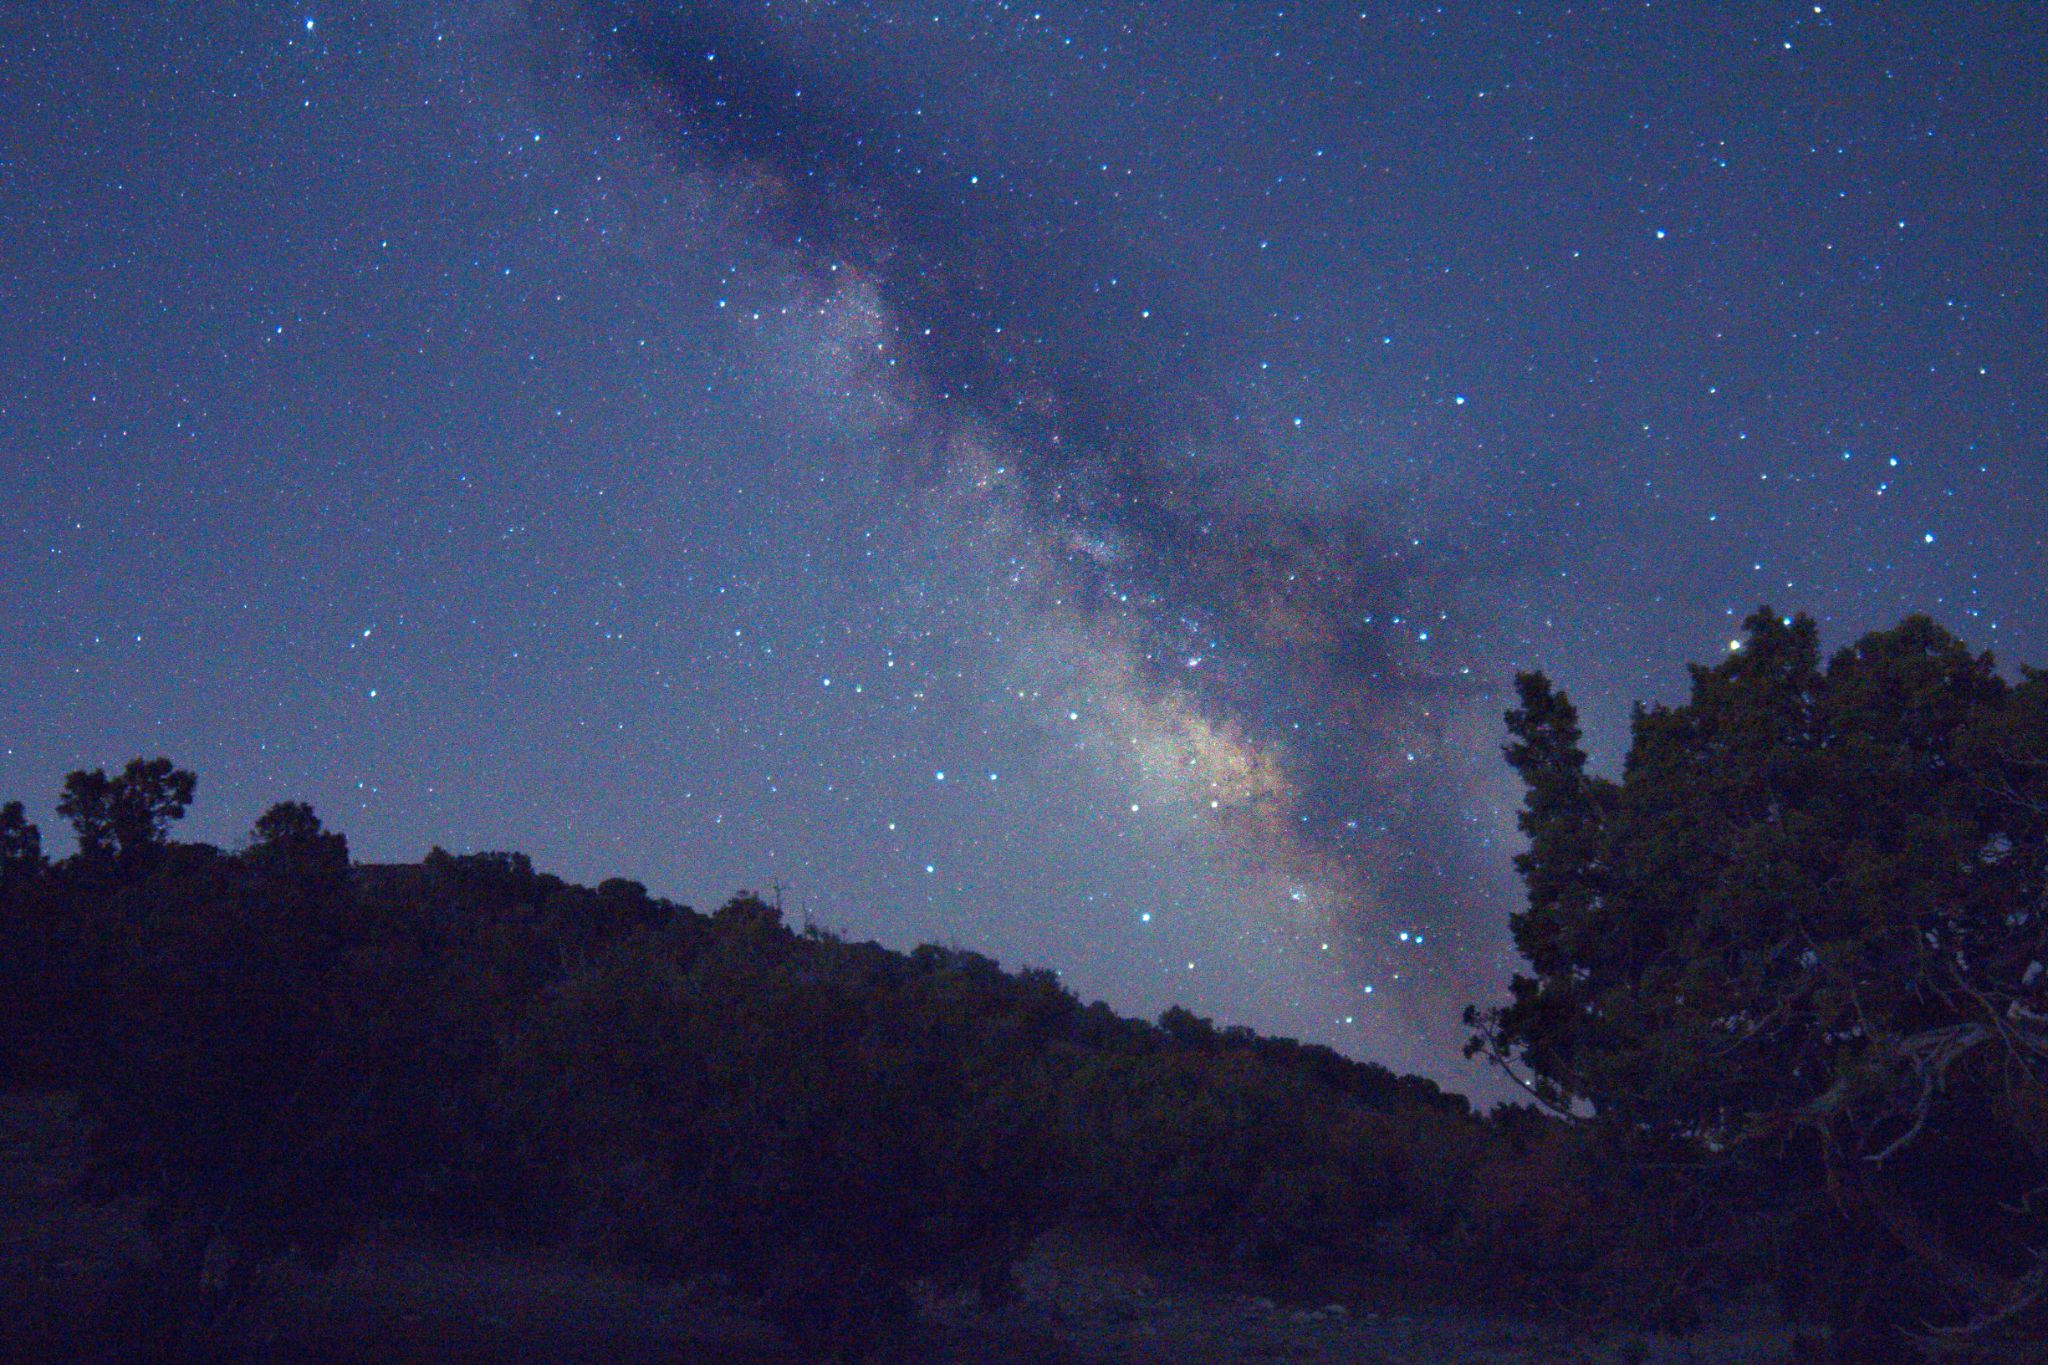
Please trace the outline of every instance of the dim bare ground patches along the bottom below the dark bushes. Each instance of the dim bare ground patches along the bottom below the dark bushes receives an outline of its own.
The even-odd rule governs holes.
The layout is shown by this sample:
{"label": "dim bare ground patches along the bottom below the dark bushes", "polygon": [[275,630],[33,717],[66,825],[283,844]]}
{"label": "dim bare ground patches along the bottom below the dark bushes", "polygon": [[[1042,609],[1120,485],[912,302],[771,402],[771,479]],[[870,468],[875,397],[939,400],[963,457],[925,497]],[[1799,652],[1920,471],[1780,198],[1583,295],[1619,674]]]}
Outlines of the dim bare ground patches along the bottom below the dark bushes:
{"label": "dim bare ground patches along the bottom below the dark bushes", "polygon": [[[121,1283],[147,1254],[135,1209],[76,1193],[78,1126],[49,1095],[0,1095],[0,1359],[109,1361]],[[1563,1322],[1282,1302],[1204,1285],[1081,1238],[1044,1238],[1018,1302],[928,1302],[895,1355],[930,1363],[1546,1365],[1788,1359],[1767,1318],[1690,1340]],[[319,1277],[283,1287],[256,1328],[279,1365],[385,1361],[795,1363],[772,1328],[715,1291],[623,1277],[573,1257],[422,1228],[385,1228]]]}

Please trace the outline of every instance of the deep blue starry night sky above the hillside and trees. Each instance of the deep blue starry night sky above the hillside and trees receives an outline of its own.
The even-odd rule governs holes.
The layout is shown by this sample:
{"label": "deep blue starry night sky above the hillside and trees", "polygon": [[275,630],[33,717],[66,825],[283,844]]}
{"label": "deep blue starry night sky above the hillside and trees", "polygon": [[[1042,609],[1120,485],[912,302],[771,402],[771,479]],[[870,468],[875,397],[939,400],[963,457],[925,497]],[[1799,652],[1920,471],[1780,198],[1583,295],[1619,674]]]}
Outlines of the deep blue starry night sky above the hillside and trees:
{"label": "deep blue starry night sky above the hillside and trees", "polygon": [[[2032,4],[0,10],[0,794],[1483,1085],[1516,669],[2048,663]],[[61,841],[57,841],[61,847]]]}

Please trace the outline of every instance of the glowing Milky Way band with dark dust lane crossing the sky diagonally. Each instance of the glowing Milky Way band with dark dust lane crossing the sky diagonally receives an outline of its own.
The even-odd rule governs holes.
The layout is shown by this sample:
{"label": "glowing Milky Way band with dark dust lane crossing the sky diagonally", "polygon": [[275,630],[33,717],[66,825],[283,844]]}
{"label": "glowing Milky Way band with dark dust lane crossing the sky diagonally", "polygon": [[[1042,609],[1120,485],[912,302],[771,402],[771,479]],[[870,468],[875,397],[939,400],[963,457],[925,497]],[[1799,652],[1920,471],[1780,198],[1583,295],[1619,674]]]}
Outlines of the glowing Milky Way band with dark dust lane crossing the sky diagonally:
{"label": "glowing Milky Way band with dark dust lane crossing the sky diagonally", "polygon": [[1485,696],[1438,606],[1468,585],[1460,565],[1399,505],[1272,487],[1202,327],[1102,303],[1090,194],[1012,151],[1014,131],[973,158],[946,149],[956,129],[922,135],[946,111],[860,82],[834,20],[625,6],[590,14],[588,39],[686,166],[719,172],[817,282],[874,301],[877,434],[995,530],[1034,610],[1030,694],[1102,731],[1133,810],[1214,825],[1278,882],[1294,948],[1335,939],[1366,976],[1409,941],[1395,925],[1458,931],[1470,751],[1444,735]]}

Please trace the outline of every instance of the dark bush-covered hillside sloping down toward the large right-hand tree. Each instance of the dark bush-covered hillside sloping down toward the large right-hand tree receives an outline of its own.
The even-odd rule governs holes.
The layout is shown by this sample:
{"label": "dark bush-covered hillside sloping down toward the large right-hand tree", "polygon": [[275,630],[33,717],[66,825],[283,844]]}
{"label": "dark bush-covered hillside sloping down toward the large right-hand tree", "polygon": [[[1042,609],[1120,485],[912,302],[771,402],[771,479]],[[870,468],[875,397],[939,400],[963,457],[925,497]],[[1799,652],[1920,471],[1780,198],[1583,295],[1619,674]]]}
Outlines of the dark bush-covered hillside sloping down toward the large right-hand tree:
{"label": "dark bush-covered hillside sloping down toward the large right-hand tree", "polygon": [[709,1275],[831,1347],[887,1340],[918,1285],[1001,1302],[1055,1224],[1464,1295],[1563,1283],[1507,1226],[1579,1236],[1503,1177],[1561,1130],[1329,1048],[797,933],[752,894],[350,864],[299,804],[240,851],[176,843],[188,800],[162,761],[74,776],[57,864],[0,821],[0,1056],[78,1093],[94,1189],[150,1207],[164,1351],[383,1216]]}

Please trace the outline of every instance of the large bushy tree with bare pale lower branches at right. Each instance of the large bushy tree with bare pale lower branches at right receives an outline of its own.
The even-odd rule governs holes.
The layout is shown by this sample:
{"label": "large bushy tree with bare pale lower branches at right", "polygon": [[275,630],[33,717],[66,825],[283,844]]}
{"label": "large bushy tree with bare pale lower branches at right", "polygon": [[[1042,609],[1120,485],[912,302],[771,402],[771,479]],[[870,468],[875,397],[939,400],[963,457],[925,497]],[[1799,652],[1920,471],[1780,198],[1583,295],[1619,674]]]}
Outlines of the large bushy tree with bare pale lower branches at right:
{"label": "large bushy tree with bare pale lower branches at right", "polygon": [[1919,616],[1827,667],[1806,618],[1745,628],[1620,782],[1518,679],[1530,974],[1473,1048],[1710,1158],[1839,1359],[2011,1328],[2048,1291],[2048,675]]}

